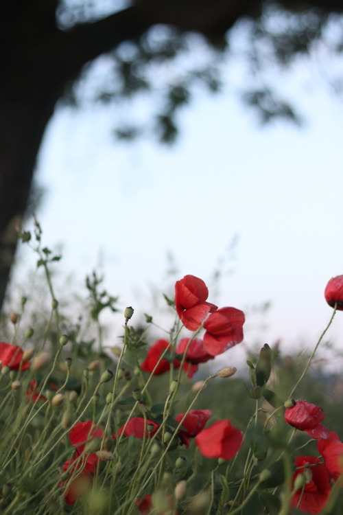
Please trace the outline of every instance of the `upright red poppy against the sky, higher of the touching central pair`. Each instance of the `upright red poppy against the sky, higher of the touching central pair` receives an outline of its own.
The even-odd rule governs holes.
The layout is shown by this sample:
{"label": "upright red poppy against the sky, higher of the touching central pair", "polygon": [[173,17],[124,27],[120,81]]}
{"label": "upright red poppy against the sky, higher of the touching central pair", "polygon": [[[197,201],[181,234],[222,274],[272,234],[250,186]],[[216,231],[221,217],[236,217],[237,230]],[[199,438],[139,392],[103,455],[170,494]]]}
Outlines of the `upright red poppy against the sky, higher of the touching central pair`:
{"label": "upright red poppy against the sky, higher of the touching central pair", "polygon": [[185,275],[175,283],[175,308],[185,328],[196,331],[208,313],[217,309],[215,304],[206,302],[209,290],[199,277]]}

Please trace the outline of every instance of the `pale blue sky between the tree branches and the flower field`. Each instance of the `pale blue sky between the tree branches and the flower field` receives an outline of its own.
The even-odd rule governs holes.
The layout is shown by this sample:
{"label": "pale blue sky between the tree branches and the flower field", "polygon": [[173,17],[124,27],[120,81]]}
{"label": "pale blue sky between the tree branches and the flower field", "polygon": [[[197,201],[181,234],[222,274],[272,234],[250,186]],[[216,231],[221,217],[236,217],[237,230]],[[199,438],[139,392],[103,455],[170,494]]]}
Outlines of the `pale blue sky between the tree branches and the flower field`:
{"label": "pale blue sky between the tree branches and the flower field", "polygon": [[[101,255],[106,288],[139,313],[148,285],[165,286],[167,251],[180,277],[206,280],[239,235],[218,303],[272,301],[268,330],[248,331],[248,345],[311,346],[331,316],[324,287],[343,273],[343,106],[315,88],[296,102],[304,128],[261,128],[233,95],[198,94],[171,149],[113,143],[108,109],[58,110],[37,179],[45,242],[64,245],[59,266],[81,280]],[[329,334],[340,345],[343,313]]]}

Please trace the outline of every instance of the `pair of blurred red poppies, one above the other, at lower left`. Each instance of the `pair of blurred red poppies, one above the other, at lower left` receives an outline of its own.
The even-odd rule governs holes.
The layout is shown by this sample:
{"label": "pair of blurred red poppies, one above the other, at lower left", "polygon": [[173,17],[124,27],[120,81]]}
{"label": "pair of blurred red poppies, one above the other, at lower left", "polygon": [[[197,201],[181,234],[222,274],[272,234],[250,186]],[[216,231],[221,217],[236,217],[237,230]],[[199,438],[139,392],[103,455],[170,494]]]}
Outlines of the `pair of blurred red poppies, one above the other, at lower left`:
{"label": "pair of blurred red poppies, one above the other, at lower left", "polygon": [[75,479],[71,480],[67,489],[64,488],[64,499],[67,504],[72,505],[76,499],[85,494],[92,485],[93,472],[99,461],[96,454],[84,454],[86,442],[95,438],[101,438],[103,431],[97,428],[92,420],[86,422],[78,422],[69,431],[69,440],[71,445],[76,447],[75,456],[68,459],[62,465],[64,472],[69,472],[69,479],[61,481],[58,486],[64,488],[75,475]]}

